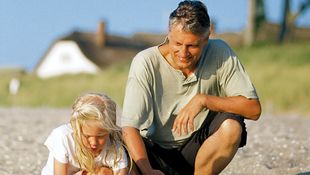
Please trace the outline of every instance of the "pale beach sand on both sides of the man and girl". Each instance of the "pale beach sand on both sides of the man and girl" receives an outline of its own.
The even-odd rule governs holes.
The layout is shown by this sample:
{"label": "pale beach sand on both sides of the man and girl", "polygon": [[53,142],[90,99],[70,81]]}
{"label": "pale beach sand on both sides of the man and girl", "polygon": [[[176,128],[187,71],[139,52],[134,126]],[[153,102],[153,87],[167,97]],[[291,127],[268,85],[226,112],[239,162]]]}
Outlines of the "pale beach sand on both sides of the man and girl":
{"label": "pale beach sand on both sides of the man and girl", "polygon": [[[0,175],[39,175],[48,134],[68,121],[69,109],[0,108]],[[246,121],[248,143],[223,175],[310,175],[310,117],[264,114]]]}

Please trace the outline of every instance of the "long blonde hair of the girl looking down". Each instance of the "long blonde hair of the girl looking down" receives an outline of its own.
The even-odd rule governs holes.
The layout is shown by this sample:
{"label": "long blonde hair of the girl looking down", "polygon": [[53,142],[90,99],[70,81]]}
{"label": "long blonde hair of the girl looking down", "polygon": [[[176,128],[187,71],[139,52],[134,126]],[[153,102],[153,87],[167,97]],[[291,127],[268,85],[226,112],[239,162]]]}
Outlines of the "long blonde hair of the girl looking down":
{"label": "long blonde hair of the girl looking down", "polygon": [[[108,96],[99,93],[87,93],[80,96],[72,106],[70,124],[73,129],[73,139],[76,143],[76,157],[80,167],[89,173],[96,172],[94,155],[82,142],[81,128],[87,121],[98,121],[102,129],[109,133],[111,147],[104,148],[107,154],[114,155],[114,165],[124,156],[121,129],[116,126],[116,104]],[[104,158],[103,165],[106,165]]]}

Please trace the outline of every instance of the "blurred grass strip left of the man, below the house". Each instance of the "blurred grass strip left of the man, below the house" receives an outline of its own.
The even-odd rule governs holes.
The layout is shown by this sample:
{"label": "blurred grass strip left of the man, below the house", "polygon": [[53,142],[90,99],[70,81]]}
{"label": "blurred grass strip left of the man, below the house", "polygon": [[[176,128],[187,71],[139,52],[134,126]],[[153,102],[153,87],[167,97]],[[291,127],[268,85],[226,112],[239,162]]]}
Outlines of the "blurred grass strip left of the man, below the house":
{"label": "blurred grass strip left of the man, below the house", "polygon": [[86,92],[101,92],[122,104],[129,63],[103,70],[98,75],[64,75],[40,79],[33,74],[19,76],[21,88],[17,95],[9,95],[8,87],[12,76],[0,82],[1,106],[68,107],[77,96]]}

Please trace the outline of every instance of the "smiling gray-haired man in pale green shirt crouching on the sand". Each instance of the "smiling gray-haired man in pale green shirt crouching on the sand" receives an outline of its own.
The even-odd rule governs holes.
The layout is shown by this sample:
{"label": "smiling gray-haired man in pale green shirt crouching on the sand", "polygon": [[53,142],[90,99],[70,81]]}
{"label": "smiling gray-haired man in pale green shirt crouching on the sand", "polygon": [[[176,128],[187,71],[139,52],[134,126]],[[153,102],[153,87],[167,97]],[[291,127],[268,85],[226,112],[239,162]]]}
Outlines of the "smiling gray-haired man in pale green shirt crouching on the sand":
{"label": "smiling gray-haired man in pale green shirt crouching on the sand", "polygon": [[131,64],[118,122],[140,173],[219,174],[244,146],[261,107],[232,49],[211,40],[200,1],[180,2],[166,41]]}

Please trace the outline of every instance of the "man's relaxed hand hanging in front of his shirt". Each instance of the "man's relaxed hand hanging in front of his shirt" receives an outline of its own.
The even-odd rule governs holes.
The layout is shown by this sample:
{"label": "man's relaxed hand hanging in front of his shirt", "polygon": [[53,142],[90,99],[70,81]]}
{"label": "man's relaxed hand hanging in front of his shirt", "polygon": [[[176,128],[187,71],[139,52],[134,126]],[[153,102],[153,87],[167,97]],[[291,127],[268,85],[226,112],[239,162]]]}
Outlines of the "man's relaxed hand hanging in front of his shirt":
{"label": "man's relaxed hand hanging in front of his shirt", "polygon": [[202,111],[205,101],[204,94],[195,95],[187,105],[180,111],[176,119],[174,120],[172,131],[177,131],[179,135],[188,133],[188,128],[194,130],[194,118]]}

